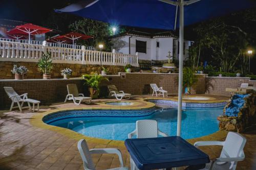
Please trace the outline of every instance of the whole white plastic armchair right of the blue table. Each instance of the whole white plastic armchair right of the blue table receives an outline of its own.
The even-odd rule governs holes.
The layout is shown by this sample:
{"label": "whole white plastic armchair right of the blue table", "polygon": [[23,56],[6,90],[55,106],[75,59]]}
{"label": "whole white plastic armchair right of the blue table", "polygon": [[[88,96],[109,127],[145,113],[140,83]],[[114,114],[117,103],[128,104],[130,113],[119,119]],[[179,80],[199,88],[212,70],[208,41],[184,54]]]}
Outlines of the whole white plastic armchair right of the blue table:
{"label": "whole white plastic armchair right of the blue table", "polygon": [[238,161],[243,161],[244,145],[246,138],[235,132],[228,132],[225,141],[198,141],[194,145],[195,147],[208,146],[208,145],[222,145],[222,151],[219,158],[210,161],[206,164],[206,169],[232,169],[235,170]]}

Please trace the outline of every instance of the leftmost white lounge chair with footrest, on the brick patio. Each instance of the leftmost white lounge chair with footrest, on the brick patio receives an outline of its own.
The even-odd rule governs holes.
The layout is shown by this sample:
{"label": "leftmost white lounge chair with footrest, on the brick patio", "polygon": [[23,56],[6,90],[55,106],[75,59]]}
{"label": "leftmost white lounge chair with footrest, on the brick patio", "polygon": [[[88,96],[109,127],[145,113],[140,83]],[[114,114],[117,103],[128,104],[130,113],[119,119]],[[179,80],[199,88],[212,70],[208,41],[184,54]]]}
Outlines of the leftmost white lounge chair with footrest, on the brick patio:
{"label": "leftmost white lounge chair with footrest, on the brick patio", "polygon": [[18,95],[12,87],[4,87],[4,89],[7,95],[9,96],[9,98],[12,100],[10,111],[12,111],[13,108],[16,108],[13,106],[14,106],[14,103],[17,103],[19,111],[22,112],[24,102],[28,103],[29,109],[31,109],[30,103],[33,104],[33,112],[35,111],[35,104],[37,104],[37,110],[39,110],[40,101],[37,101],[34,99],[28,99],[28,93]]}

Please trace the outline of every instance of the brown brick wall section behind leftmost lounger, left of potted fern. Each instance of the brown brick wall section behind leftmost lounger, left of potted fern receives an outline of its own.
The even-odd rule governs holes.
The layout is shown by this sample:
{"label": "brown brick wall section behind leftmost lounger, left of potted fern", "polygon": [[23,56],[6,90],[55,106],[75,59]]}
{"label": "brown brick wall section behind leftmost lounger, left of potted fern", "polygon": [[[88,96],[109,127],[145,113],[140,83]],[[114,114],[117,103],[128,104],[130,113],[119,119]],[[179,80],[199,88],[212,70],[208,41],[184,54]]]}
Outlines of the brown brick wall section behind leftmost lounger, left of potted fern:
{"label": "brown brick wall section behind leftmost lounger, left of potted fern", "polygon": [[[30,99],[41,101],[41,104],[63,102],[67,95],[67,84],[75,83],[79,92],[84,92],[82,81],[79,80],[11,80],[0,81],[0,108],[9,108],[11,100],[3,87],[11,86],[18,94],[28,93]],[[27,104],[26,104],[27,105]]]}

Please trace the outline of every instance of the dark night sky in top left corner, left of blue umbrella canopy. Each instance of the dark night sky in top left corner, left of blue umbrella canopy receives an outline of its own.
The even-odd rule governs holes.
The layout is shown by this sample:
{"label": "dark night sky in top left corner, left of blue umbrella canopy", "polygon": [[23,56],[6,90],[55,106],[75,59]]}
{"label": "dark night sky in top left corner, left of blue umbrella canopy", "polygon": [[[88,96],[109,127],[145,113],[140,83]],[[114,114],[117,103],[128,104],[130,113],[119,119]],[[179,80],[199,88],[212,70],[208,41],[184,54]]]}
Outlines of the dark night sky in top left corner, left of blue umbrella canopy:
{"label": "dark night sky in top left corner, left of blue umbrella canopy", "polygon": [[0,18],[32,22],[40,25],[53,9],[60,9],[75,0],[0,0]]}

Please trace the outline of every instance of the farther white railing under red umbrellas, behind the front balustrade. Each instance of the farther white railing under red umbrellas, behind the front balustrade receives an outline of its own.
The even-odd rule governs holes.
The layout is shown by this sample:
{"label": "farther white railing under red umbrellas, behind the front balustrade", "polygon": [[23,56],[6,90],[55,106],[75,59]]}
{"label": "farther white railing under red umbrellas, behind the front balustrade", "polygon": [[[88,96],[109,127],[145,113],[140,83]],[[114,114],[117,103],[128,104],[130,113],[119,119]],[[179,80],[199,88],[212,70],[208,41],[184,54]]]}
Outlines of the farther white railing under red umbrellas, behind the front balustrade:
{"label": "farther white railing under red umbrellas, behind the front balustrade", "polygon": [[[11,39],[11,38],[0,38],[0,41],[9,41],[9,42],[19,42],[19,43],[27,43],[27,44],[37,44],[42,45],[44,41],[36,41],[36,40],[29,40],[27,39]],[[82,45],[73,45],[73,44],[66,44],[66,43],[55,43],[55,42],[46,42],[47,46],[54,46],[54,47],[62,47],[62,48],[75,48],[81,49]],[[86,46],[86,50],[95,50],[93,46]]]}

